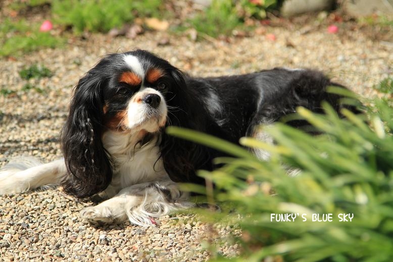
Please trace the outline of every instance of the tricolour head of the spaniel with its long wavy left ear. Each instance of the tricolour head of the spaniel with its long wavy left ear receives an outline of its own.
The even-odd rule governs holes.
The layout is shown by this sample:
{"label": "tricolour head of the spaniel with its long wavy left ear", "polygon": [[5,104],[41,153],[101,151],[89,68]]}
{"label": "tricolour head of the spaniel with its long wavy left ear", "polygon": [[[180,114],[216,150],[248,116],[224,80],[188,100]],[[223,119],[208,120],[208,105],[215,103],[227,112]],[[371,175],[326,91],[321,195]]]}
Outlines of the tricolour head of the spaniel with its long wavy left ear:
{"label": "tricolour head of the spaniel with its long wavy left ear", "polygon": [[[111,156],[102,141],[105,131],[158,133],[169,124],[188,127],[187,97],[183,74],[148,51],[103,58],[79,80],[61,133],[70,174],[62,182],[65,191],[84,197],[111,182]],[[169,158],[163,151],[170,150],[171,142],[162,138],[164,158]]]}

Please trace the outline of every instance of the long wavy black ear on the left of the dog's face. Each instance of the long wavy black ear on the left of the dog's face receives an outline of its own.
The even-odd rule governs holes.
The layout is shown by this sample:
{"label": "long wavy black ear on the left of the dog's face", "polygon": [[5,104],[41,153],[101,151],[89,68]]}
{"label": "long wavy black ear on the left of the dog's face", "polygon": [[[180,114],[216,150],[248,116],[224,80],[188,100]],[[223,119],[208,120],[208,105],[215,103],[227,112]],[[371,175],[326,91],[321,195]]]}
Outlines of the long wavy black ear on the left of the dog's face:
{"label": "long wavy black ear on the left of the dog's face", "polygon": [[66,193],[77,197],[98,193],[112,180],[110,158],[101,139],[102,88],[107,84],[102,74],[96,66],[79,80],[61,131],[61,147],[69,173],[61,185]]}

